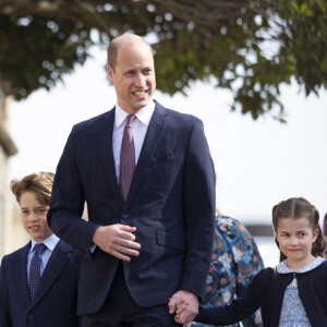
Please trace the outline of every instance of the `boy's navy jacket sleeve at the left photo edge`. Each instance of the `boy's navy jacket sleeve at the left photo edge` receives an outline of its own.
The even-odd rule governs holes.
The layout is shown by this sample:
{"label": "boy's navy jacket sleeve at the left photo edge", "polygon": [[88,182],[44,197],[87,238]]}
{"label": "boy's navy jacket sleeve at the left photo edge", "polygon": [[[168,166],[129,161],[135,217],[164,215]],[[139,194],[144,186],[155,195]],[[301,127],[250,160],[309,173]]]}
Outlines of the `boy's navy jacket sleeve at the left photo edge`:
{"label": "boy's navy jacket sleeve at the left photo edge", "polygon": [[11,314],[9,305],[8,278],[5,274],[5,257],[0,267],[0,327],[11,327]]}

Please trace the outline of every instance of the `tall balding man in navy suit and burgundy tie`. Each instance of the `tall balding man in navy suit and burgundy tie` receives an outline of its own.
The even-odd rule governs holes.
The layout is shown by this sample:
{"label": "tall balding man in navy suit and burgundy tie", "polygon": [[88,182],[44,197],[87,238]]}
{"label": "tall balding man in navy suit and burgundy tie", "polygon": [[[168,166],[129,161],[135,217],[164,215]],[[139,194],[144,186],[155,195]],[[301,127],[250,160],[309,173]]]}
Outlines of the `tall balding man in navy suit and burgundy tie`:
{"label": "tall balding man in navy suit and burgundy tie", "polygon": [[196,315],[213,249],[215,172],[203,123],[152,99],[154,58],[143,38],[113,39],[107,72],[117,105],[73,128],[48,222],[85,254],[81,326],[179,326],[168,300],[185,299],[183,314]]}

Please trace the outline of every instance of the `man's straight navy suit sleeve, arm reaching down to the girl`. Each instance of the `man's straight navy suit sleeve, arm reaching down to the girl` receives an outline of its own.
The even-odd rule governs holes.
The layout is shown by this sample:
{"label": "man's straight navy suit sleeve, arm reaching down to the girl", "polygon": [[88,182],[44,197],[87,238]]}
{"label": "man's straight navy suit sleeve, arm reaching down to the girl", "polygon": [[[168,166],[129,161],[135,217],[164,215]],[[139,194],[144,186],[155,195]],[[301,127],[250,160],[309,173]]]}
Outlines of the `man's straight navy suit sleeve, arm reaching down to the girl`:
{"label": "man's straight navy suit sleeve, arm reaching down to the girl", "polygon": [[186,257],[181,289],[202,300],[211,261],[215,231],[215,169],[203,123],[196,120],[184,165]]}

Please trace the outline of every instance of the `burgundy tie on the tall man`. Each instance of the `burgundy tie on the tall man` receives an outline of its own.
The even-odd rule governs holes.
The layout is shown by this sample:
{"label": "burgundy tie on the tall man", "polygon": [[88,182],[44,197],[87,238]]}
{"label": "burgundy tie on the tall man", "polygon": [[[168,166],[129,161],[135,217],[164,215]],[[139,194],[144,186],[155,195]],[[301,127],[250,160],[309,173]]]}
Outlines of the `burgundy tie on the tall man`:
{"label": "burgundy tie on the tall man", "polygon": [[120,174],[119,185],[123,198],[126,201],[130,185],[135,169],[135,147],[132,133],[132,122],[136,118],[135,114],[129,114],[124,128],[124,134],[121,142],[120,150]]}

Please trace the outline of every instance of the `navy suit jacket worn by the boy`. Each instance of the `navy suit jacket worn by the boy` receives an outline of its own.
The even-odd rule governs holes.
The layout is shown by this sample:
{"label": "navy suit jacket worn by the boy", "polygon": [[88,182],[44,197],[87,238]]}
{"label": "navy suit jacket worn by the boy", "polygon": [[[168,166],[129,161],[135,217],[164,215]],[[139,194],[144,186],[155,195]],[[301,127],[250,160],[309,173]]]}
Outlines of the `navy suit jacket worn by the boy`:
{"label": "navy suit jacket worn by the boy", "polygon": [[0,268],[0,327],[74,327],[81,254],[59,241],[29,300],[27,254],[31,242],[5,255]]}

